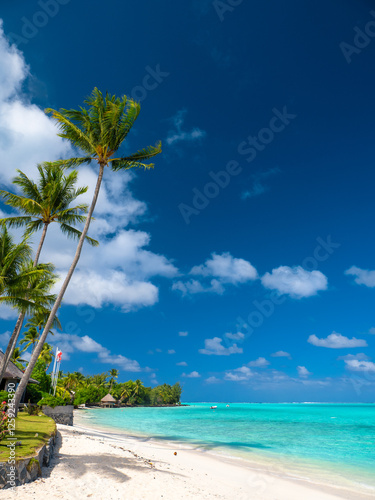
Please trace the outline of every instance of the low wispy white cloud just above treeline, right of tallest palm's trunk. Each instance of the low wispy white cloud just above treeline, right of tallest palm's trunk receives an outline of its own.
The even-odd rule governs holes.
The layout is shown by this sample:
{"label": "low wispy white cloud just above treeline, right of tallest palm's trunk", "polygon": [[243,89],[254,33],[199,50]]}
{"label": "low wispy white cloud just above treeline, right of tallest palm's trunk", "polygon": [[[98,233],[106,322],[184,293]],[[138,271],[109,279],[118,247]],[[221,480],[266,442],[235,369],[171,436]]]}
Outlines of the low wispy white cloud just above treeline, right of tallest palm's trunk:
{"label": "low wispy white cloud just above treeline, right of tallest palm's trunk", "polygon": [[56,332],[53,337],[51,336],[48,342],[54,346],[58,346],[62,351],[62,359],[70,359],[69,354],[74,352],[88,352],[96,353],[98,355],[98,361],[101,363],[108,363],[114,365],[124,371],[139,372],[141,367],[138,361],[129,359],[122,354],[111,354],[111,351],[106,347],[102,346],[96,342],[93,338],[88,335],[70,334],[70,333],[59,333]]}

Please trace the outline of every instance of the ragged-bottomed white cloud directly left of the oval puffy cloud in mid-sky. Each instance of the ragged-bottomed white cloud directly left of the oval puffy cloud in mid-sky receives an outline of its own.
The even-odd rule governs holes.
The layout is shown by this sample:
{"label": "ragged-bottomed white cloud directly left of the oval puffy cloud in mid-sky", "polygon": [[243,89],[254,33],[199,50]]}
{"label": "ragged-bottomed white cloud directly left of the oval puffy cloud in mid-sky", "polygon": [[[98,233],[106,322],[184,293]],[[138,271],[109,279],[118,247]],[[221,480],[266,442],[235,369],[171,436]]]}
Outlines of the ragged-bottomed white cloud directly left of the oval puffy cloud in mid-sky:
{"label": "ragged-bottomed white cloud directly left of the oval puffy cloud in mid-sky", "polygon": [[203,281],[195,278],[186,282],[180,280],[173,284],[172,289],[179,290],[183,295],[207,292],[221,295],[228,284],[239,285],[258,277],[250,262],[235,258],[229,252],[213,253],[204,264],[194,266],[189,274],[200,276]]}

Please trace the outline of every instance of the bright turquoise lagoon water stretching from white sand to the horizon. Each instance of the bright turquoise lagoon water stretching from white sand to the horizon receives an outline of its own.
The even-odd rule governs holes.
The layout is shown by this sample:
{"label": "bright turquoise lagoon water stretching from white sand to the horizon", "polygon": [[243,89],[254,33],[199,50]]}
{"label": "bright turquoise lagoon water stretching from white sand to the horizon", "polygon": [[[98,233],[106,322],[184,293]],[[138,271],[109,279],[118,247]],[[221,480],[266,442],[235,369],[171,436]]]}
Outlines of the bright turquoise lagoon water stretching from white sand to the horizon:
{"label": "bright turquoise lagoon water stretching from white sand to the horizon", "polygon": [[[217,409],[210,405],[217,404]],[[226,451],[294,475],[375,488],[374,404],[191,403],[176,408],[95,409],[77,423]]]}

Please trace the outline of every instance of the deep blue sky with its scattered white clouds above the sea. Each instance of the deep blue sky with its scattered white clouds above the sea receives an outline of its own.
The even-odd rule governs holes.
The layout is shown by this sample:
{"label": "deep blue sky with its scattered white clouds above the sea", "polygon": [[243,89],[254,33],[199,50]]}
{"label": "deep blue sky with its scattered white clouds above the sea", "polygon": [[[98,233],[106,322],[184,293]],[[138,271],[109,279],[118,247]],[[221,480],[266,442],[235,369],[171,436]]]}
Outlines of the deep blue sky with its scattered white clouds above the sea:
{"label": "deep blue sky with its scattered white clouds above the sea", "polygon": [[[2,186],[72,153],[41,110],[94,86],[141,101],[126,150],[163,142],[153,171],[106,172],[101,245],[50,338],[64,371],[180,381],[185,401],[374,399],[371,8],[5,2]],[[52,229],[42,257],[63,276],[73,251]]]}

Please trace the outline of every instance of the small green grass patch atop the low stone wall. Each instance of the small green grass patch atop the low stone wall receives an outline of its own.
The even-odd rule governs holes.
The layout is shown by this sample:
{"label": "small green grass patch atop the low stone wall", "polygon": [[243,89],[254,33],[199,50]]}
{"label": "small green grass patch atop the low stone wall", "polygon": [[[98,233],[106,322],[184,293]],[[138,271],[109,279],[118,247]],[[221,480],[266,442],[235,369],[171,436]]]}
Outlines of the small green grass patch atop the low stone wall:
{"label": "small green grass patch atop the low stone wall", "polygon": [[[16,446],[16,459],[34,455],[35,450],[41,448],[55,432],[56,424],[52,418],[19,413],[16,418],[16,430],[12,436],[15,441],[22,442],[21,446]],[[0,442],[0,462],[8,460],[8,442],[6,437]]]}

